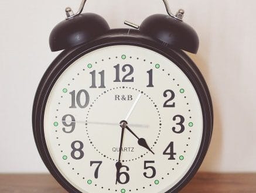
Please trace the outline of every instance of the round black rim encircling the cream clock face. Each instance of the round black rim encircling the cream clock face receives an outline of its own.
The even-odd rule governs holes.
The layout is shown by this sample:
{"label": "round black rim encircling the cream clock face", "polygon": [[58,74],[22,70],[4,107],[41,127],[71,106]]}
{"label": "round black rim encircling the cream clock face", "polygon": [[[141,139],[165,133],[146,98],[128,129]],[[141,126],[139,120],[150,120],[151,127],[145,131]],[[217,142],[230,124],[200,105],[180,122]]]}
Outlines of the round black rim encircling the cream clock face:
{"label": "round black rim encircling the cream clock face", "polygon": [[141,32],[139,32],[139,30],[110,30],[107,34],[98,37],[89,43],[81,44],[80,46],[74,47],[73,49],[64,50],[62,53],[60,53],[60,55],[53,61],[46,73],[43,75],[39,87],[37,88],[32,113],[33,133],[36,146],[50,173],[69,192],[80,191],[74,188],[73,185],[71,185],[62,176],[62,174],[60,174],[59,170],[57,170],[57,167],[54,165],[46,145],[43,120],[47,99],[53,85],[63,71],[66,70],[66,68],[78,58],[102,47],[124,44],[144,47],[146,49],[156,51],[157,53],[162,54],[162,56],[165,56],[169,58],[169,60],[173,61],[173,63],[175,63],[192,82],[202,106],[203,137],[199,152],[197,153],[192,167],[190,167],[189,171],[182,178],[182,180],[180,180],[174,187],[166,192],[178,192],[180,189],[185,187],[185,185],[193,178],[194,174],[196,174],[209,147],[213,129],[213,106],[206,82],[193,61],[182,50],[172,49],[165,43],[161,43],[158,40],[143,35]]}

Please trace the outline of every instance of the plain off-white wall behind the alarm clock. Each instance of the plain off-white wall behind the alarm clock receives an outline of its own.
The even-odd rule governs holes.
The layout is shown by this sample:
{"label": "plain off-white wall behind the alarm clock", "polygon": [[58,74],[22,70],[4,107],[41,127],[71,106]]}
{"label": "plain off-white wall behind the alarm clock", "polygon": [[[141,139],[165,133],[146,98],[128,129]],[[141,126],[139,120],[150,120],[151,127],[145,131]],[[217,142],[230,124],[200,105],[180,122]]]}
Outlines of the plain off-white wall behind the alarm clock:
{"label": "plain off-white wall behind the alarm clock", "polygon": [[[256,171],[256,2],[253,0],[169,1],[173,12],[200,36],[196,61],[214,102],[214,133],[202,171]],[[51,53],[49,33],[64,8],[80,1],[0,1],[0,173],[47,171],[33,140],[33,97]],[[165,13],[161,0],[88,0],[84,12],[100,13],[111,27],[125,19],[140,24]]]}

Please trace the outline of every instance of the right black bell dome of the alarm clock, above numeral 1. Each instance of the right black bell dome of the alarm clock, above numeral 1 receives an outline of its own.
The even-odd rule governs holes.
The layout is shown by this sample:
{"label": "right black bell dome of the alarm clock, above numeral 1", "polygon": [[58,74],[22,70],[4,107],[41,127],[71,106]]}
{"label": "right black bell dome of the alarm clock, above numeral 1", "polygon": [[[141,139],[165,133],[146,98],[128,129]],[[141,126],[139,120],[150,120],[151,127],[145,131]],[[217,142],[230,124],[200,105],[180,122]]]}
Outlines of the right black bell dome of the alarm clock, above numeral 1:
{"label": "right black bell dome of the alarm clock, above numeral 1", "polygon": [[168,15],[151,15],[142,22],[139,29],[145,35],[158,39],[173,49],[196,54],[199,49],[199,37],[191,26],[182,21],[184,11],[180,9],[176,15],[173,15],[167,1],[164,2]]}

